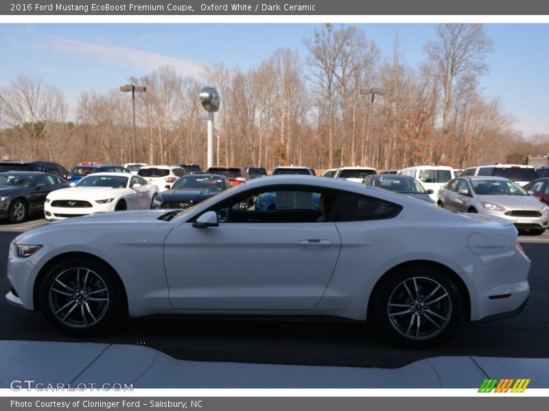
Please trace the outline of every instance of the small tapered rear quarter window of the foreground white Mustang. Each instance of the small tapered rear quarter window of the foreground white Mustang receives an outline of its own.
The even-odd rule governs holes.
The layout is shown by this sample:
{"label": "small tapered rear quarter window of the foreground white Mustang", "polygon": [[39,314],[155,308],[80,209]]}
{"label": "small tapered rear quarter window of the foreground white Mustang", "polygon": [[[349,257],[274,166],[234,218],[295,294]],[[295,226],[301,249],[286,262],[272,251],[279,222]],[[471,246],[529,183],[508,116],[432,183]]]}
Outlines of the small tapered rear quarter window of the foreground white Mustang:
{"label": "small tapered rear quarter window of the foreground white Mustang", "polygon": [[399,214],[401,206],[360,195],[341,194],[334,210],[334,221],[368,221],[391,219]]}

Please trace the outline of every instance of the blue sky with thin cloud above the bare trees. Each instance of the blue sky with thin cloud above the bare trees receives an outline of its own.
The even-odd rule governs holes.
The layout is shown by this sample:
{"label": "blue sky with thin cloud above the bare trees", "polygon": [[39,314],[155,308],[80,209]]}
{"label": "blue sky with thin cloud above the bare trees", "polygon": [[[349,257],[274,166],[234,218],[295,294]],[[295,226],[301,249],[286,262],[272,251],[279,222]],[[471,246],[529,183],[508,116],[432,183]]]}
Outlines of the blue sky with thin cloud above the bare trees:
{"label": "blue sky with thin cloud above the bare trees", "polygon": [[[348,25],[348,24],[347,24]],[[434,25],[357,24],[384,56],[398,36],[404,60],[423,61],[423,45]],[[131,75],[150,73],[163,64],[198,78],[200,66],[222,62],[243,70],[281,47],[305,57],[303,39],[316,23],[299,24],[0,24],[0,86],[15,75],[40,77],[60,88],[71,105],[86,90],[107,91]],[[549,24],[487,24],[495,42],[488,56],[491,71],[481,79],[484,94],[500,97],[515,128],[528,136],[549,134]]]}

